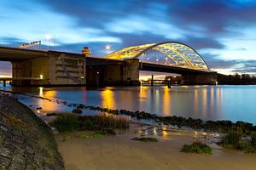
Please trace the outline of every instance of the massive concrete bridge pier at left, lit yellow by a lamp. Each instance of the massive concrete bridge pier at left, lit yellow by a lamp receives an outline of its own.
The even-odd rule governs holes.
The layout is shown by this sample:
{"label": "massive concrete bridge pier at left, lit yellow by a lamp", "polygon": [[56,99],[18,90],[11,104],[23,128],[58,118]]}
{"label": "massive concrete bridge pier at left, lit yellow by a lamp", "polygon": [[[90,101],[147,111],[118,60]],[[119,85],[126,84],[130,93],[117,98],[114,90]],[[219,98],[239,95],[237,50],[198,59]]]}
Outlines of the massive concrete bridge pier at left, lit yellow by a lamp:
{"label": "massive concrete bridge pier at left, lit yellow by a lamp", "polygon": [[42,77],[42,79],[15,80],[12,84],[14,86],[85,85],[85,62],[82,54],[51,51],[48,52],[47,57],[15,61],[12,62],[14,78]]}

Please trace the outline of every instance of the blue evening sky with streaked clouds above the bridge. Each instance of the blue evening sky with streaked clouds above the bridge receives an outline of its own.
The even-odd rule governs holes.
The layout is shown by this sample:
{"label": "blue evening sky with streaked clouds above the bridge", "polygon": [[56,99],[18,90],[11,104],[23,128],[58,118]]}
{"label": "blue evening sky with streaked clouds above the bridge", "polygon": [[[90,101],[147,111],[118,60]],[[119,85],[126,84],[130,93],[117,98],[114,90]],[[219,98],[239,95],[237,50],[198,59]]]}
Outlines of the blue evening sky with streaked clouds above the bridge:
{"label": "blue evening sky with streaked clouds above the bridge", "polygon": [[[214,71],[256,74],[256,1],[253,0],[0,0],[0,45],[51,34],[51,49],[103,56],[151,42],[195,48]],[[0,75],[10,74],[0,62]]]}

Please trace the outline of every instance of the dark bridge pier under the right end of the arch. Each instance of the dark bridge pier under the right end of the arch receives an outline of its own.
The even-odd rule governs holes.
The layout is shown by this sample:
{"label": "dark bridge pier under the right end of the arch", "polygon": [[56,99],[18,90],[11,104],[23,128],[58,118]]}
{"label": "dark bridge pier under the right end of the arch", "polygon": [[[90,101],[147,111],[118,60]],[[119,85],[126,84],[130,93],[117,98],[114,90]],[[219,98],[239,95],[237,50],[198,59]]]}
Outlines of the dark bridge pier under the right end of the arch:
{"label": "dark bridge pier under the right end of the arch", "polygon": [[215,85],[217,82],[218,74],[217,72],[207,72],[204,74],[196,75],[183,75],[182,83],[189,85]]}

